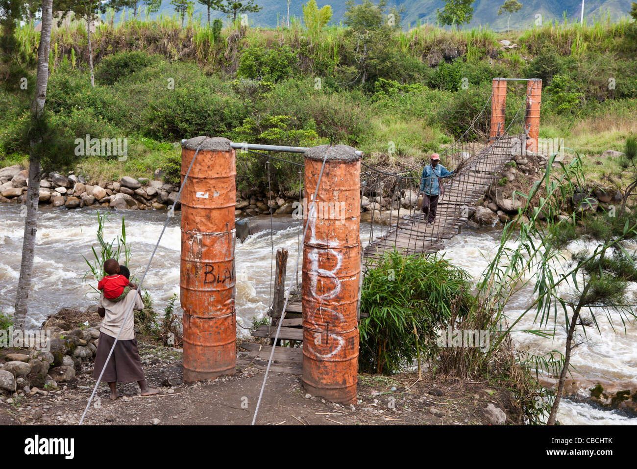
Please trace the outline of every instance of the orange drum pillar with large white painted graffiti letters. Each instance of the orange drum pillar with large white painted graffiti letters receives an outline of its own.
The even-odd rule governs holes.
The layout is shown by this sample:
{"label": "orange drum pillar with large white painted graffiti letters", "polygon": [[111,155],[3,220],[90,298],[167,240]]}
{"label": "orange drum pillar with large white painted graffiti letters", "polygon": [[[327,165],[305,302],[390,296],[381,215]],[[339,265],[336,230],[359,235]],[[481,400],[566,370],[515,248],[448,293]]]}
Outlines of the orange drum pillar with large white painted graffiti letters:
{"label": "orange drum pillar with large white painted graffiti letters", "polygon": [[360,174],[352,147],[320,145],[305,153],[303,383],[313,396],[341,403],[355,401],[358,378]]}

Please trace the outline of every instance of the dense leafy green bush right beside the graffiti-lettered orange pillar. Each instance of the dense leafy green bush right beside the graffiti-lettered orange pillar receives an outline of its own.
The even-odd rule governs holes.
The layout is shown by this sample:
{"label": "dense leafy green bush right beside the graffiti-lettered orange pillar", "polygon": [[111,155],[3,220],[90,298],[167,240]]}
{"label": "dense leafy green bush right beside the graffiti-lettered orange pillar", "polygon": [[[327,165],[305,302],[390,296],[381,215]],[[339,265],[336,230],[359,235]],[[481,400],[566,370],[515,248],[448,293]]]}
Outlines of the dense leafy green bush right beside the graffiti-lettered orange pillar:
{"label": "dense leafy green bush right beside the graffiti-lettered orange pillar", "polygon": [[434,359],[438,331],[475,303],[468,278],[442,257],[385,253],[362,283],[359,369],[390,375]]}

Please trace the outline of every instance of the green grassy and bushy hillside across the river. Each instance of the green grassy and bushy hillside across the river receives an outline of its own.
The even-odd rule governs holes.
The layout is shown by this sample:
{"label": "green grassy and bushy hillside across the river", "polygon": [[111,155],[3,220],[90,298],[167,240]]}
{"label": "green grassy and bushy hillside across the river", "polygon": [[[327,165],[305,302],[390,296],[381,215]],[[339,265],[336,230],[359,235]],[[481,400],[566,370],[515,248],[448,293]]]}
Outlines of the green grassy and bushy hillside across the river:
{"label": "green grassy and bushy hillside across the river", "polygon": [[[182,28],[177,17],[116,20],[111,14],[92,34],[96,87],[84,24],[55,29],[47,108],[56,133],[68,139],[60,151],[72,157],[75,138],[87,134],[128,138],[126,161],[69,158],[98,180],[148,176],[156,168],[176,178],[179,140],[204,134],[262,144],[342,143],[378,164],[413,164],[468,128],[494,77],[542,78],[540,137],[564,138],[587,155],[619,150],[637,131],[634,23],[406,32],[387,26],[386,11],[370,5],[350,11],[348,26],[313,31],[300,22],[276,29],[236,22],[219,30],[192,17]],[[38,36],[29,26],[18,31],[26,55],[36,53]],[[503,47],[498,41],[505,39],[515,46]],[[34,73],[28,80],[31,90]],[[8,88],[0,91],[2,165],[23,162],[28,152],[30,94]],[[513,115],[526,84],[509,82],[508,89]],[[487,119],[488,113],[476,127],[488,128]],[[241,187],[266,187],[264,161],[239,154]],[[290,165],[277,163],[273,171],[281,191],[298,183]]]}

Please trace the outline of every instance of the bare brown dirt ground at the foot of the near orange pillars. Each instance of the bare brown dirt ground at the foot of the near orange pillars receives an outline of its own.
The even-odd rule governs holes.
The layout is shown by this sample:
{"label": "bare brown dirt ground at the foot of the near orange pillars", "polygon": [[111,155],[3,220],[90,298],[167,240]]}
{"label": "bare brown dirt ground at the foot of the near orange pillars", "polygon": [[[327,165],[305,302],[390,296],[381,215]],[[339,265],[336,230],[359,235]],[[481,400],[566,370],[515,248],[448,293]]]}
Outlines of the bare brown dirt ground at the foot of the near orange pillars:
{"label": "bare brown dirt ground at the foot of the near orange pillars", "polygon": [[[263,382],[264,371],[247,368],[235,376],[200,383],[182,383],[181,354],[171,349],[140,345],[149,385],[162,396],[138,396],[136,383],[118,385],[122,398],[111,401],[106,384],[98,388],[85,424],[109,425],[249,425]],[[92,392],[92,364],[84,374],[47,396],[21,396],[13,404],[0,403],[0,424],[78,423]],[[506,391],[485,383],[434,383],[428,376],[417,382],[412,373],[385,377],[359,375],[353,406],[306,397],[299,376],[269,373],[257,424],[485,424],[482,409],[492,402],[510,414]],[[162,386],[163,384],[163,386]],[[436,395],[440,394],[440,395]]]}

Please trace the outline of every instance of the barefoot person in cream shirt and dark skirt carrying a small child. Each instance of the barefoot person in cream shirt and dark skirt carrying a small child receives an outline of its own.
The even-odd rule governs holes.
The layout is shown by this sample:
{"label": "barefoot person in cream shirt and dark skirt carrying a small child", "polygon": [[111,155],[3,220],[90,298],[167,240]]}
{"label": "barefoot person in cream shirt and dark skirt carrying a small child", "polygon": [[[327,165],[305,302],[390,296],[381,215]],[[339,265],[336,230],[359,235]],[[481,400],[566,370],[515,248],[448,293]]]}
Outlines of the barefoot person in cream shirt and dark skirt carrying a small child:
{"label": "barefoot person in cream shirt and dark skirt carrying a small child", "polygon": [[[125,279],[130,276],[128,269],[124,265],[117,265],[117,272],[120,272]],[[136,381],[140,385],[142,396],[159,394],[157,389],[148,387],[144,372],[141,369],[140,352],[137,348],[137,339],[133,329],[133,312],[131,311],[131,314],[126,318],[131,304],[132,308],[137,310],[144,307],[144,303],[141,301],[141,292],[134,290],[136,288],[134,284],[131,284],[131,288],[132,290],[120,301],[106,298],[106,288],[104,288],[97,305],[97,314],[103,320],[99,328],[93,377],[95,379],[99,378],[99,374],[104,368],[104,364],[106,364],[102,380],[106,381],[111,389],[111,399],[119,397],[117,383],[131,381]],[[117,343],[115,343],[117,334],[119,334],[119,338]],[[113,349],[110,360],[106,363],[106,358],[113,347],[113,343],[115,343],[115,349]]]}

